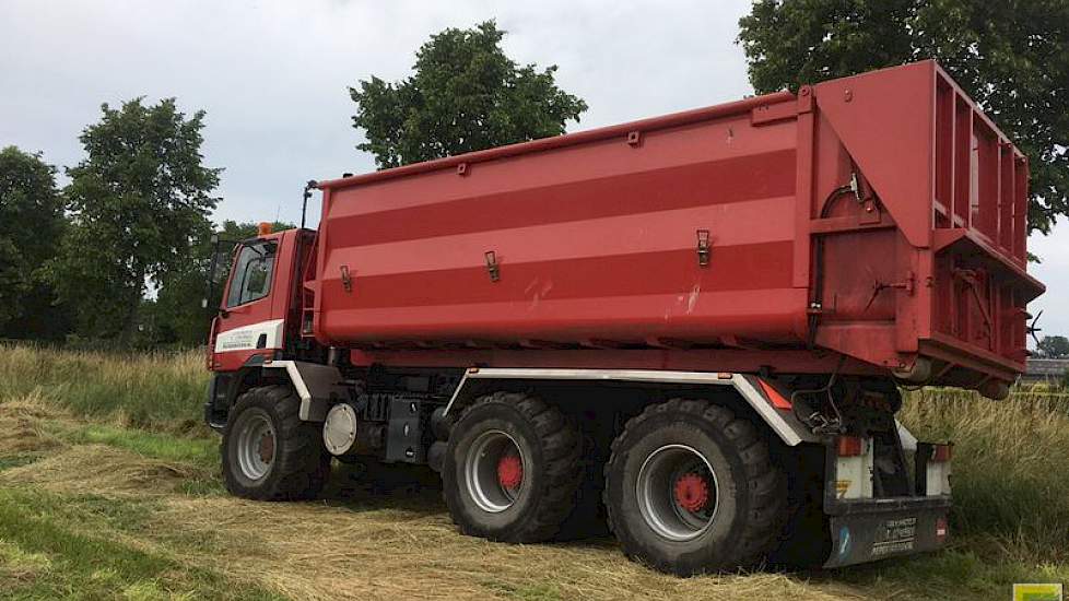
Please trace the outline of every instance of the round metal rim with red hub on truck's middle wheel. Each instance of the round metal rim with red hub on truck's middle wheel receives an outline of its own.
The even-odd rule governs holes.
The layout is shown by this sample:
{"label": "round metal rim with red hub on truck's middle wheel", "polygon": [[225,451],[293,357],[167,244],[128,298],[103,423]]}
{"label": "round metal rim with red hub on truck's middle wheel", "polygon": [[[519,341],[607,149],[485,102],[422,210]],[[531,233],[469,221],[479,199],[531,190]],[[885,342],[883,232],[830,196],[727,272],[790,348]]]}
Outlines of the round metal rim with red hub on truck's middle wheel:
{"label": "round metal rim with red hub on truck's middle wheel", "polygon": [[465,458],[468,495],[483,511],[504,511],[527,486],[527,458],[512,436],[500,429],[484,432]]}

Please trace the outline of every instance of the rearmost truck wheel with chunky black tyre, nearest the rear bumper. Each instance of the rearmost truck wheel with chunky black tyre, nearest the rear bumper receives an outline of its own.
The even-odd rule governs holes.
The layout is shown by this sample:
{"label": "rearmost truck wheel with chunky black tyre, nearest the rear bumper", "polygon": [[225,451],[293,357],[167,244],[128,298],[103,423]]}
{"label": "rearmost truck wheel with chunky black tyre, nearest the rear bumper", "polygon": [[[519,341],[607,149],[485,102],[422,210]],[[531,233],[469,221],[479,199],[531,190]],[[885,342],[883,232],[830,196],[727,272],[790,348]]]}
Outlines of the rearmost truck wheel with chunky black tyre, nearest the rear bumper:
{"label": "rearmost truck wheel with chunky black tyre, nearest the rear bumper", "polygon": [[629,557],[680,576],[761,563],[787,507],[783,474],[754,426],[682,399],[646,408],[613,440],[604,504]]}

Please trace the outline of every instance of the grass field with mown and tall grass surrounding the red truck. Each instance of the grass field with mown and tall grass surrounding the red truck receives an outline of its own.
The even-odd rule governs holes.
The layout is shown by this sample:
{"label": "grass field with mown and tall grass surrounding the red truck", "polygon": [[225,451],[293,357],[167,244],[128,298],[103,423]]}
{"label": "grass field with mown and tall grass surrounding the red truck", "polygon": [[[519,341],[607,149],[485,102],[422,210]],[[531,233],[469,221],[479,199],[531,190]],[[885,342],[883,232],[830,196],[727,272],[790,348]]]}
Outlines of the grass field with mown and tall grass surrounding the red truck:
{"label": "grass field with mown and tall grass surrounding the red truck", "polygon": [[679,579],[611,540],[457,534],[432,473],[336,470],[326,498],[227,496],[200,425],[200,353],[0,346],[0,598],[1009,599],[1069,580],[1069,400],[921,391],[903,421],[952,438],[951,549],[834,571]]}

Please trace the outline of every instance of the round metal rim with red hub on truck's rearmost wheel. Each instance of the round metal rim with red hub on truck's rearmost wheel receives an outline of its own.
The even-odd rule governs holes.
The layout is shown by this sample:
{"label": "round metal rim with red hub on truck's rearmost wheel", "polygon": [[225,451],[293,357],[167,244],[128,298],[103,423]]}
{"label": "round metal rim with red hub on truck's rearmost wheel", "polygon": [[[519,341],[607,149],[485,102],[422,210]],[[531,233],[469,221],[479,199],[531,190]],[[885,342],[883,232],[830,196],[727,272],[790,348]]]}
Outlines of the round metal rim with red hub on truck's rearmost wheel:
{"label": "round metal rim with red hub on truck's rearmost wheel", "polygon": [[635,488],[646,526],[670,541],[693,540],[716,518],[716,472],[692,447],[665,445],[649,453],[638,470]]}

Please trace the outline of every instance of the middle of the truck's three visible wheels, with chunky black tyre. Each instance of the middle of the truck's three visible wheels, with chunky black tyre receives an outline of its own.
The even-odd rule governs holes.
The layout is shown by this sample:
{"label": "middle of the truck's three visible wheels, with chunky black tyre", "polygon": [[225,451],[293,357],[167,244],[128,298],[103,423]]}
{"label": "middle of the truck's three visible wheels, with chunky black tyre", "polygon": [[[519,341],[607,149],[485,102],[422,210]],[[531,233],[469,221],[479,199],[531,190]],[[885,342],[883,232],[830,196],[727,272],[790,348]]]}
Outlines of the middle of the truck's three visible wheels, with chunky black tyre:
{"label": "middle of the truck's three visible wheels, with chunky black tyre", "polygon": [[[501,464],[489,475],[481,468],[493,468],[509,452],[518,452],[522,470],[520,483],[506,495],[507,487],[494,475],[501,478]],[[522,393],[482,397],[449,434],[442,480],[453,521],[465,534],[493,541],[526,543],[556,537],[575,507],[579,452],[575,426],[555,408]],[[485,478],[473,484],[469,472],[472,479]]]}

